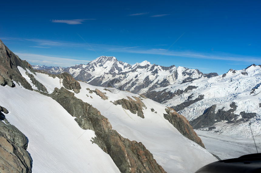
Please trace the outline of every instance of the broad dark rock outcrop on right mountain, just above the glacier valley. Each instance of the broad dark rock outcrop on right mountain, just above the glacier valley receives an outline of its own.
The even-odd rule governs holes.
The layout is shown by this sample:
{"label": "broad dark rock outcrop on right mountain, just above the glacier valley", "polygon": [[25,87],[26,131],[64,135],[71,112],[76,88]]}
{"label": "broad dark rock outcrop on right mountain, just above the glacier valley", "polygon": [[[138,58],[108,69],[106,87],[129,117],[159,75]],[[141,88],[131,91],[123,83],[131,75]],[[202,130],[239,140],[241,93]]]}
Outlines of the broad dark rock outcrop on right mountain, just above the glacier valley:
{"label": "broad dark rock outcrop on right mountain, just above the glacier valley", "polygon": [[222,120],[231,121],[239,115],[233,113],[234,111],[236,111],[237,107],[235,102],[232,102],[230,104],[230,107],[231,109],[229,109],[228,111],[224,111],[225,107],[223,107],[222,109],[219,109],[217,113],[215,113],[216,105],[214,104],[206,109],[206,111],[201,116],[191,121],[190,124],[194,129],[197,129],[212,126],[214,123],[220,122]]}

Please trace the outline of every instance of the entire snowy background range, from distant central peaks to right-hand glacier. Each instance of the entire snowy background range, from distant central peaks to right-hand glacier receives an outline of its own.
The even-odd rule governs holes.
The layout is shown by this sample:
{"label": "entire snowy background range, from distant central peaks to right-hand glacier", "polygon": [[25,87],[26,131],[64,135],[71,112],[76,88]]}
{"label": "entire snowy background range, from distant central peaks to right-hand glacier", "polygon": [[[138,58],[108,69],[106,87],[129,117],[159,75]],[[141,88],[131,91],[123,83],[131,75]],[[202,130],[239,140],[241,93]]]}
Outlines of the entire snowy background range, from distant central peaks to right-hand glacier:
{"label": "entire snowy background range, from distant central peaks to right-hand glacier", "polygon": [[[174,108],[190,121],[193,128],[213,135],[226,135],[229,139],[235,136],[251,138],[251,123],[253,135],[261,136],[260,66],[230,69],[223,75],[217,75],[202,74],[196,69],[184,67],[151,65],[147,61],[131,66],[118,62],[114,57],[101,56],[87,65],[67,68],[67,72],[91,85],[113,86],[143,94]],[[247,150],[240,153],[248,154]],[[225,154],[225,157],[228,155]]]}

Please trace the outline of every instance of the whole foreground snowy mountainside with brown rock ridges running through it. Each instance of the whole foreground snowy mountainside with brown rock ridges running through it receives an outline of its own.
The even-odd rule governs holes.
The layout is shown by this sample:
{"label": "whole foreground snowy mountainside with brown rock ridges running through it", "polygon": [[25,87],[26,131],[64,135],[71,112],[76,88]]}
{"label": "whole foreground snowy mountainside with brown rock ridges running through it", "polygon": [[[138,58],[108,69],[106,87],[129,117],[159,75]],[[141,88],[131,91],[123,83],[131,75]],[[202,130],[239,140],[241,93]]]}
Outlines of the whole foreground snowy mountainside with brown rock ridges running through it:
{"label": "whole foreground snowy mountainside with brown rock ridges running through it", "polygon": [[[1,40],[0,59],[0,105],[9,111],[0,114],[0,125],[27,137],[33,172],[195,172],[217,160],[169,107],[68,73],[35,72]],[[120,64],[115,71],[128,66]]]}

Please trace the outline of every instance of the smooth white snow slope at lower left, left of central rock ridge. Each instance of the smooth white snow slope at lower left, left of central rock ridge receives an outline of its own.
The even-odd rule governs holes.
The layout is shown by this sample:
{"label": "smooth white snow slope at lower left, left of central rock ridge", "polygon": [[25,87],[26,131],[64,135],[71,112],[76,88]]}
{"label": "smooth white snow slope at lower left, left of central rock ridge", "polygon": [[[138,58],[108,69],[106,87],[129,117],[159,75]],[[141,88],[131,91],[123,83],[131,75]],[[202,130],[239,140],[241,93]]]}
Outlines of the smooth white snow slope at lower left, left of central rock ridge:
{"label": "smooth white snow slope at lower left, left of central rock ridge", "polygon": [[0,105],[9,111],[6,119],[28,138],[32,171],[120,172],[108,154],[90,142],[92,130],[81,129],[74,117],[52,98],[0,86]]}

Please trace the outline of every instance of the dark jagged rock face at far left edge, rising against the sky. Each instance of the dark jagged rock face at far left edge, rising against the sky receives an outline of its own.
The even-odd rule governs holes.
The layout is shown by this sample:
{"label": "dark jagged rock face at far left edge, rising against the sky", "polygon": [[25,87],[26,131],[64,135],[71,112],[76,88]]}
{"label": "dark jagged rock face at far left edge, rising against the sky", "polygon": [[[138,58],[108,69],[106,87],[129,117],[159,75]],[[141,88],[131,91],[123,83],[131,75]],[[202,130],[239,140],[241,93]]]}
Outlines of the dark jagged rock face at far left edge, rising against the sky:
{"label": "dark jagged rock face at far left edge, rising against the sky", "polygon": [[0,40],[0,85],[15,87],[15,82],[19,82],[24,88],[32,90],[31,85],[22,77],[17,66],[23,69],[29,69],[33,72],[32,66],[25,60],[21,60],[17,55],[12,53]]}

